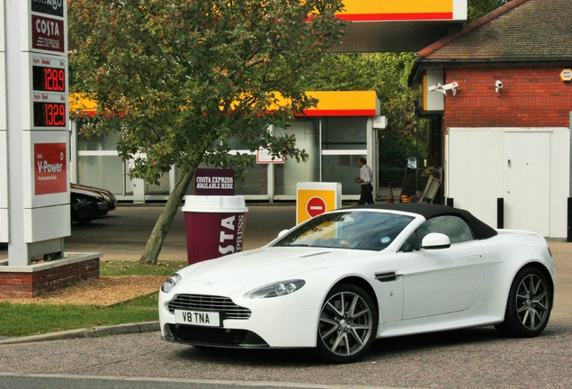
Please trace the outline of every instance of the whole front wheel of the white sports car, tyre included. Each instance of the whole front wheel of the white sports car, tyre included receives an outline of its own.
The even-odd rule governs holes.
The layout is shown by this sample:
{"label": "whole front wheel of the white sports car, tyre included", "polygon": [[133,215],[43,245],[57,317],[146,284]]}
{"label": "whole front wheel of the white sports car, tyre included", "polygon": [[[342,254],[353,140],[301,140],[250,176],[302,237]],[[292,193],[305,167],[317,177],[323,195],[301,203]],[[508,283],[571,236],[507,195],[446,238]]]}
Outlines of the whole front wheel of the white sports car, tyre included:
{"label": "whole front wheel of the white sports car, tyre included", "polygon": [[320,310],[317,351],[328,362],[348,363],[371,348],[377,312],[369,294],[356,285],[335,286]]}

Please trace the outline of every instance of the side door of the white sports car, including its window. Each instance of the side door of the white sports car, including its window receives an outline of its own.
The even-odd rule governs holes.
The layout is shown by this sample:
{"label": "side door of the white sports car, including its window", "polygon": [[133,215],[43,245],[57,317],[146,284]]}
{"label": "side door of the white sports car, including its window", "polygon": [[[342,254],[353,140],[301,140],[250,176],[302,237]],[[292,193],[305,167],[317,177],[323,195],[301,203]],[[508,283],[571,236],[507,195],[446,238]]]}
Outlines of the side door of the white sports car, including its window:
{"label": "side door of the white sports car, including its window", "polygon": [[[447,235],[451,247],[420,248],[423,238],[431,232]],[[454,215],[429,219],[417,228],[408,243],[416,245],[416,249],[401,256],[404,320],[460,312],[477,303],[483,293],[487,255],[464,220]]]}

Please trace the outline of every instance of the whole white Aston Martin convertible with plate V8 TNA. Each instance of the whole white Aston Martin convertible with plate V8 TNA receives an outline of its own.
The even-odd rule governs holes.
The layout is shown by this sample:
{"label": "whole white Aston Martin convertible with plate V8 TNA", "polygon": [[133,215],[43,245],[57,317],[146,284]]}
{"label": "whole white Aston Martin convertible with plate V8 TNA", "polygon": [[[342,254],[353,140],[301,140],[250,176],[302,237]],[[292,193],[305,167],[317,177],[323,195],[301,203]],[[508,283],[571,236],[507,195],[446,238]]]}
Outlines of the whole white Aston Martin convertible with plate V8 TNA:
{"label": "whole white Aston Martin convertible with plate V8 TNA", "polygon": [[351,362],[375,339],[546,327],[555,265],[540,235],[434,204],[345,208],[261,249],[184,267],[159,294],[162,337],[222,348],[316,348]]}

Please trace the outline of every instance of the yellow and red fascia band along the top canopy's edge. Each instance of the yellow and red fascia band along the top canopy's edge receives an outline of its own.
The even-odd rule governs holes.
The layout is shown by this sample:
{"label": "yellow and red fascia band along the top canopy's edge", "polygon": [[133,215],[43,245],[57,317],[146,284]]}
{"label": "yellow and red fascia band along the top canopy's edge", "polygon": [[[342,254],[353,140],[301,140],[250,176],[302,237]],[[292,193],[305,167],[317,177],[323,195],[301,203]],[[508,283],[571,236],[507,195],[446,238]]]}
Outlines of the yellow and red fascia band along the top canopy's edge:
{"label": "yellow and red fascia band along the top canopy's edge", "polygon": [[344,0],[340,19],[352,22],[452,20],[455,0]]}

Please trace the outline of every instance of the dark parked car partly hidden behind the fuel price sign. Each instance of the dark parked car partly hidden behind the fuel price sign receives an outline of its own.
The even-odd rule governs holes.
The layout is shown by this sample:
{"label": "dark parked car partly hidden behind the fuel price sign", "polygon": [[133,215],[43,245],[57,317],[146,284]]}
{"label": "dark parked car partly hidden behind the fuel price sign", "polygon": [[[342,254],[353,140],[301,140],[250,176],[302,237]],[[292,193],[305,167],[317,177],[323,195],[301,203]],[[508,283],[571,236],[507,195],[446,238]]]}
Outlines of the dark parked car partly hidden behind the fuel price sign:
{"label": "dark parked car partly hidden behind the fuel price sign", "polygon": [[117,207],[115,195],[94,186],[70,184],[71,221],[85,224],[103,218]]}

